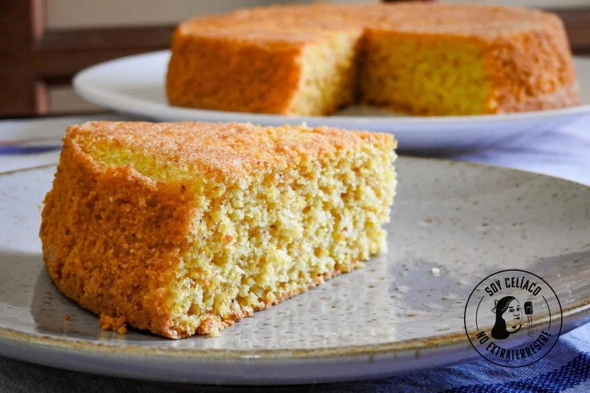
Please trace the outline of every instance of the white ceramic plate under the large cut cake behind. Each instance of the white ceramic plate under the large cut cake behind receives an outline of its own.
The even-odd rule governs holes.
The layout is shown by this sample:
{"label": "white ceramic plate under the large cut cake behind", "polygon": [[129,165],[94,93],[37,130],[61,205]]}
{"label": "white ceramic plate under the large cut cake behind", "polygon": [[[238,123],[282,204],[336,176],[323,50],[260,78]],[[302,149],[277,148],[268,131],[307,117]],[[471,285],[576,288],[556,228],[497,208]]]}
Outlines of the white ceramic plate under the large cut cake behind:
{"label": "white ceramic plate under the large cut cake behind", "polygon": [[76,91],[87,100],[159,121],[241,121],[267,126],[286,123],[394,133],[404,151],[486,147],[522,133],[540,133],[590,113],[590,58],[575,58],[584,105],[559,110],[477,116],[409,117],[368,107],[333,116],[283,116],[172,107],[164,90],[169,51],[124,57],[81,71]]}

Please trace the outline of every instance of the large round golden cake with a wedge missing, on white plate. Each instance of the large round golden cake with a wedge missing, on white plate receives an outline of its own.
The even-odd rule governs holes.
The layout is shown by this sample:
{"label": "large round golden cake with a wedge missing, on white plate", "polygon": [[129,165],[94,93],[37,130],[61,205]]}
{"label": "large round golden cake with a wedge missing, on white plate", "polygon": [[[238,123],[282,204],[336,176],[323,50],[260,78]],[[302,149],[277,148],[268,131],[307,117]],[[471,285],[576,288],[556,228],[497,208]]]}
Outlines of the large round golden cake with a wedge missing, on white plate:
{"label": "large round golden cake with a wedge missing, on white plate", "polygon": [[183,22],[171,105],[325,115],[362,103],[417,115],[576,105],[559,17],[534,9],[402,3],[243,9]]}

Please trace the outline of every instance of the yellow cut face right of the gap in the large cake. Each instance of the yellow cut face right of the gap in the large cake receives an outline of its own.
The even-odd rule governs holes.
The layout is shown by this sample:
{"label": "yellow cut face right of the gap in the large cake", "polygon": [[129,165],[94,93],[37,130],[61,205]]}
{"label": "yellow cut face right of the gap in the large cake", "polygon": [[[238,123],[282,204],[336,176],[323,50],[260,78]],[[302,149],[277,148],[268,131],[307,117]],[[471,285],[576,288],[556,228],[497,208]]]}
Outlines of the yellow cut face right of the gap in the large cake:
{"label": "yellow cut face right of the gap in the large cake", "polygon": [[493,110],[483,42],[372,31],[365,43],[364,103],[418,115]]}

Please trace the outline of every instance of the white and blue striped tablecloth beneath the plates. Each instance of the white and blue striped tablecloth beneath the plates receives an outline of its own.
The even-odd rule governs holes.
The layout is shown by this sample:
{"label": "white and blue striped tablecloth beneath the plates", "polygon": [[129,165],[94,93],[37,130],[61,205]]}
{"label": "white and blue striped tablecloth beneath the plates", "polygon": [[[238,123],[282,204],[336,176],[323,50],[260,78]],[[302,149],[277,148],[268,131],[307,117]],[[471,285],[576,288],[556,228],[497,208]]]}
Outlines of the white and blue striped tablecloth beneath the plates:
{"label": "white and blue striped tablecloth beneath the plates", "polygon": [[[122,120],[116,114],[0,121],[0,172],[57,163],[69,124]],[[590,184],[590,117],[559,130],[523,135],[500,146],[441,157],[550,174]],[[590,392],[590,324],[559,338],[541,361],[507,369],[483,359],[397,377],[298,387],[212,387],[101,377],[0,357],[0,392]]]}

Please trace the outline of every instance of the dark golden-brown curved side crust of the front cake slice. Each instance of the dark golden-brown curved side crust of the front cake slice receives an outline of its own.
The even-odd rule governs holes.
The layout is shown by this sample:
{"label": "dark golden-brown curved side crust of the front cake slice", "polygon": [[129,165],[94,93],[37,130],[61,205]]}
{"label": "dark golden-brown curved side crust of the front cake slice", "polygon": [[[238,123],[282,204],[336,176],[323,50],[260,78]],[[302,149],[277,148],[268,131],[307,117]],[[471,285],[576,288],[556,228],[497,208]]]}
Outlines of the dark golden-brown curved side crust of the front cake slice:
{"label": "dark golden-brown curved side crust of the front cake slice", "polygon": [[185,247],[191,202],[174,184],[156,186],[130,167],[100,166],[73,134],[64,139],[41,214],[48,273],[90,311],[174,337],[165,288]]}

